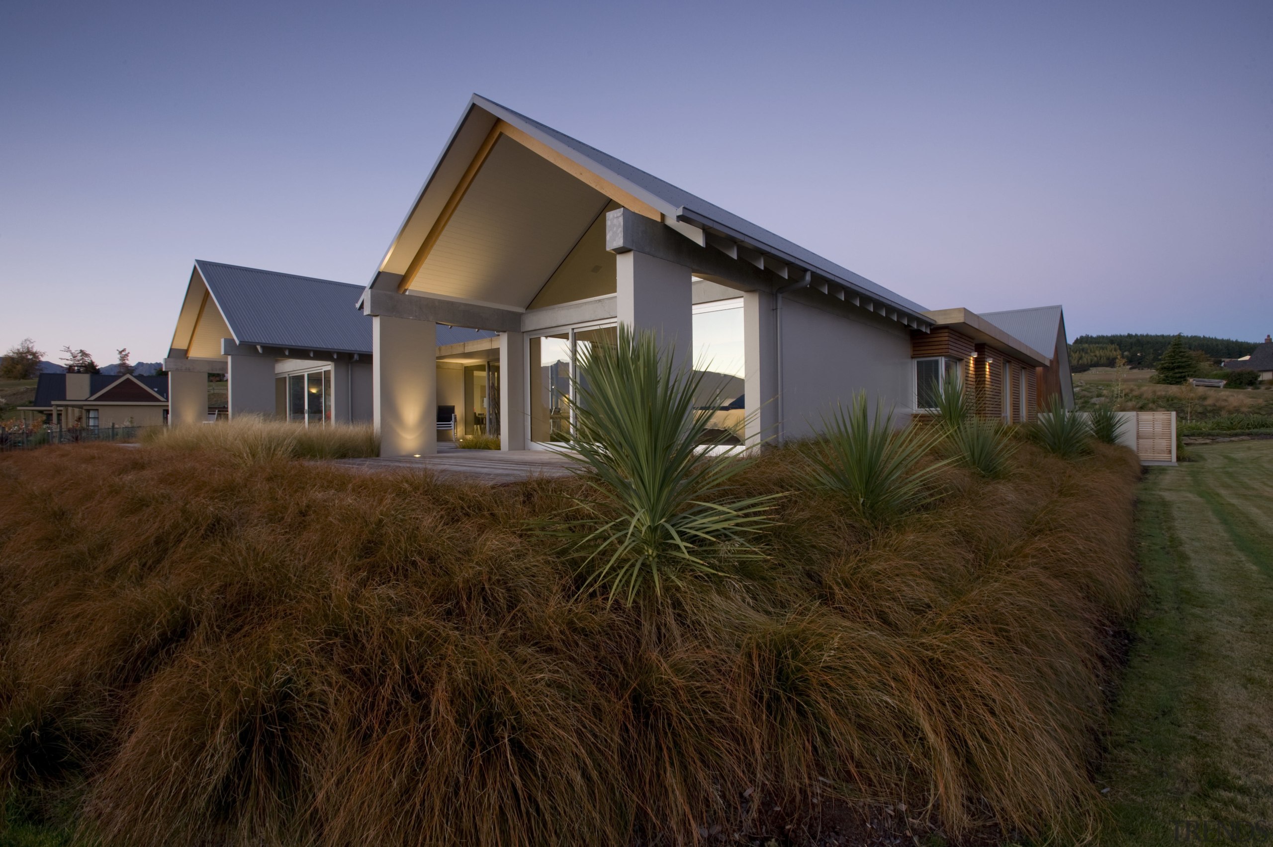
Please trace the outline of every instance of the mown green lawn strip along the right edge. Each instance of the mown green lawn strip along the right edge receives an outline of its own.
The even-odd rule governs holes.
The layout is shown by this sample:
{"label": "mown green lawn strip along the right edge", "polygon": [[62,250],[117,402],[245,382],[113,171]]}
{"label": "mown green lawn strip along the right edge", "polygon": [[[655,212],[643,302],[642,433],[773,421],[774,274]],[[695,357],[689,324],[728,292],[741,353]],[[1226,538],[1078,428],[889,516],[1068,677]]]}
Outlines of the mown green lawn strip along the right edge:
{"label": "mown green lawn strip along the right edge", "polygon": [[[1186,843],[1181,820],[1273,823],[1273,441],[1190,455],[1141,492],[1147,595],[1100,778],[1102,846]],[[1226,838],[1209,843],[1242,843]]]}

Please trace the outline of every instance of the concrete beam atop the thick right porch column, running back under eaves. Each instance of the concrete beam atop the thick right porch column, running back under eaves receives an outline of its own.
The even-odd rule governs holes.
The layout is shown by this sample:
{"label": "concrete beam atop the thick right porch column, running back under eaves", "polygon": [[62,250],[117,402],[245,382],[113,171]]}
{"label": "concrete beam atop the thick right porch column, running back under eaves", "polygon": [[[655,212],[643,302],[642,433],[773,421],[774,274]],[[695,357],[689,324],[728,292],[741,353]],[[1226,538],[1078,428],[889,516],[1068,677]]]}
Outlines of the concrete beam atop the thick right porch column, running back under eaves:
{"label": "concrete beam atop the thick right porch column, running back under eaves", "polygon": [[629,209],[606,213],[606,250],[615,253],[639,252],[676,265],[685,265],[698,276],[719,278],[747,290],[771,292],[784,280],[740,259],[731,259],[715,247],[700,247],[663,224]]}

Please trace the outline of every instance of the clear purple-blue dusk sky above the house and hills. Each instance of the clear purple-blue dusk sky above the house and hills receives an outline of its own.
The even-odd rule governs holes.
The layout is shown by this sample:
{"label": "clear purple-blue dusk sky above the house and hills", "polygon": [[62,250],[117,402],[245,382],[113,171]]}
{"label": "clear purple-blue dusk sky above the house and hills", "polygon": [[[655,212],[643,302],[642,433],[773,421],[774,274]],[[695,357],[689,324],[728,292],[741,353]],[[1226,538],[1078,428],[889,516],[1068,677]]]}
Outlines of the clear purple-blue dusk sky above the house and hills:
{"label": "clear purple-blue dusk sky above the house and hills", "polygon": [[6,3],[0,350],[364,284],[472,92],[931,308],[1273,332],[1273,3]]}

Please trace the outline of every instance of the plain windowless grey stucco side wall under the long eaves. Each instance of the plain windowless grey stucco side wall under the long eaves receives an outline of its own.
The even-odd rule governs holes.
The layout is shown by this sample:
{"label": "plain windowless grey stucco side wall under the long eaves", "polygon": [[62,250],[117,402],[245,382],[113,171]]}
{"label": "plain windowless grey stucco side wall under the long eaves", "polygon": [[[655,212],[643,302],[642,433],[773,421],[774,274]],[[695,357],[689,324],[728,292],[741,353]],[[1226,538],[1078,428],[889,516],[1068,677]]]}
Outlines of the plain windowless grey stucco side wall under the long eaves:
{"label": "plain windowless grey stucco side wall under the long eaves", "polygon": [[782,410],[787,438],[821,429],[821,416],[857,391],[894,406],[899,425],[910,420],[910,331],[883,320],[844,316],[787,298],[782,313]]}

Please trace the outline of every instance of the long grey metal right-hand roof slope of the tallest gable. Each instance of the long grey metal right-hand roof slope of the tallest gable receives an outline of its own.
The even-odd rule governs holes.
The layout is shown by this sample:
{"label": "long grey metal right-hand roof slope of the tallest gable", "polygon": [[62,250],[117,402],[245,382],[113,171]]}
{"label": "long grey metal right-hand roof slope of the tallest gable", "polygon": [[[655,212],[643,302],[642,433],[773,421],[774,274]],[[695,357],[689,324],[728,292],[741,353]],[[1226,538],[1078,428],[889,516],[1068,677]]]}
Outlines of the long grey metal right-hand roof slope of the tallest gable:
{"label": "long grey metal right-hand roof slope of the tallest gable", "polygon": [[556,148],[560,153],[572,159],[583,159],[588,164],[589,169],[600,172],[601,174],[608,173],[608,176],[614,177],[614,182],[616,185],[634,190],[633,194],[649,200],[651,205],[662,206],[663,213],[673,219],[693,223],[699,227],[707,227],[709,229],[717,229],[731,238],[760,250],[761,252],[768,252],[777,259],[783,259],[789,264],[815,271],[833,281],[858,288],[863,293],[868,293],[895,308],[901,308],[915,316],[922,316],[923,312],[928,311],[919,303],[906,299],[905,297],[889,290],[883,285],[871,281],[866,276],[854,274],[829,259],[819,256],[817,253],[806,250],[799,245],[783,238],[782,236],[769,232],[764,227],[759,227],[715,204],[708,203],[703,197],[693,195],[684,189],[679,189],[670,182],[665,182],[663,180],[659,180],[640,168],[633,167],[621,159],[616,159],[608,153],[602,153],[601,150],[589,146],[578,139],[573,139],[564,132],[559,132],[551,126],[540,124],[536,120],[526,117],[524,115],[514,112],[513,110],[500,106],[499,103],[489,101],[479,94],[472,96],[471,106],[479,106],[488,112],[502,117],[518,129],[540,138],[540,140],[545,144]]}

